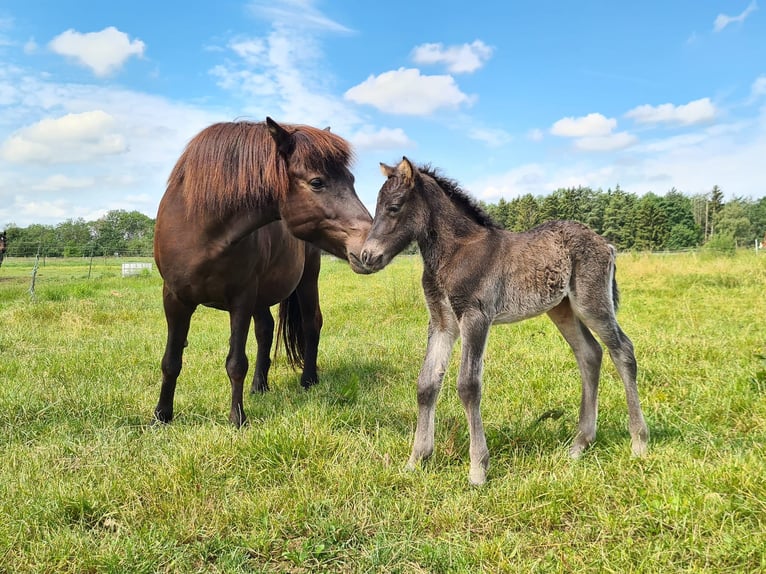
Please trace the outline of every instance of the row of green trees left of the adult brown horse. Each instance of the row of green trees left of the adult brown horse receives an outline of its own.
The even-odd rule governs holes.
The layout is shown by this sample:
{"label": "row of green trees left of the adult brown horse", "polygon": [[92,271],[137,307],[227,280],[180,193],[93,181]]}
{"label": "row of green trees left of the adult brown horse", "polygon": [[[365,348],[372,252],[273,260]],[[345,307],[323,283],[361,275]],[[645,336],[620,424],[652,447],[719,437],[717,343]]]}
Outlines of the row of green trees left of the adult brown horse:
{"label": "row of green trees left of the adult brown horse", "polygon": [[8,255],[14,257],[151,256],[154,220],[138,211],[114,210],[96,221],[10,225],[5,231]]}

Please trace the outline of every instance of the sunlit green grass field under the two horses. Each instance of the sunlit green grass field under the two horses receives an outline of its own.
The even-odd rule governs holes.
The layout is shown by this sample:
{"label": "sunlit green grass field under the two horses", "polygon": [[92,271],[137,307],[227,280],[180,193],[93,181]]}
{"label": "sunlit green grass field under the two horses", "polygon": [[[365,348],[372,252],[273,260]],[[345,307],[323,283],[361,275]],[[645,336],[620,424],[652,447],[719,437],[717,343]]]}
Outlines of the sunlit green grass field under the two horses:
{"label": "sunlit green grass field under the two horses", "polygon": [[35,301],[30,261],[0,268],[2,572],[766,570],[764,254],[620,256],[643,459],[608,359],[596,444],[572,461],[570,350],[545,317],[495,327],[483,488],[466,478],[459,347],[436,452],[402,471],[427,324],[418,258],[367,277],[326,258],[320,384],[303,391],[277,360],[241,430],[227,423],[227,316],[210,309],[192,322],[175,421],[148,424],[161,280],[123,279],[118,263],[88,278],[87,260],[49,260]]}

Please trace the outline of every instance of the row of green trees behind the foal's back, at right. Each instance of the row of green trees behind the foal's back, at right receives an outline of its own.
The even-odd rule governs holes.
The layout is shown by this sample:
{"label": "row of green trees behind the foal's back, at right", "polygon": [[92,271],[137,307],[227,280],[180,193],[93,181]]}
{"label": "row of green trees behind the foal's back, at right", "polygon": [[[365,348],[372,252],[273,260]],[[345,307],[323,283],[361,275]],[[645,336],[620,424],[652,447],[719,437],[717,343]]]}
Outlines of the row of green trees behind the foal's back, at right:
{"label": "row of green trees behind the foal's back, at right", "polygon": [[607,191],[572,187],[546,196],[501,199],[483,207],[512,231],[551,219],[574,219],[621,250],[680,250],[711,241],[736,247],[753,245],[766,234],[766,197],[725,202],[718,186],[691,197],[675,188],[663,196],[651,192],[637,196],[619,186]]}

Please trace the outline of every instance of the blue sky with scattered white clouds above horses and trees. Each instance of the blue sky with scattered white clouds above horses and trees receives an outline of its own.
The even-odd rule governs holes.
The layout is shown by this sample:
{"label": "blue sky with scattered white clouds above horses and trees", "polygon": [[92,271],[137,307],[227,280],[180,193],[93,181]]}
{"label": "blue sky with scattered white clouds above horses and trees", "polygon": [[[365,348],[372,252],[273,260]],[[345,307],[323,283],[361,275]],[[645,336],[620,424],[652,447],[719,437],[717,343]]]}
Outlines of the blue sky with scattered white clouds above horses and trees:
{"label": "blue sky with scattered white clouds above horses and trees", "polygon": [[205,126],[332,126],[478,199],[559,187],[766,195],[756,1],[3,0],[0,227],[154,217]]}

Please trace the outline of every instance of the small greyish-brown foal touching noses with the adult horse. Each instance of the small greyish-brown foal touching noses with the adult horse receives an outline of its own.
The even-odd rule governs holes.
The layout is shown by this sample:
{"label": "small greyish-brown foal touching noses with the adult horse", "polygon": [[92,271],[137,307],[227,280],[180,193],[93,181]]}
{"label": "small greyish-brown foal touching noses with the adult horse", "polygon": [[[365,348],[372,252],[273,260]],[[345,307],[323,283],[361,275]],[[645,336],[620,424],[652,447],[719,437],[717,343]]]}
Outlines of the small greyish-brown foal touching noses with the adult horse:
{"label": "small greyish-brown foal touching noses with the adult horse", "polygon": [[625,385],[632,449],[647,450],[649,431],[636,387],[633,344],[617,324],[615,250],[573,221],[544,223],[524,233],[498,228],[458,185],[404,158],[382,165],[388,178],[364,246],[367,272],[383,269],[410,242],[423,256],[430,313],[425,362],[418,377],[418,422],[408,468],[431,455],[434,413],[455,340],[462,338],[458,394],[470,433],[475,484],[486,480],[489,451],[481,420],[481,376],[489,328],[547,313],[574,351],[582,377],[578,457],[596,436],[600,337]]}

